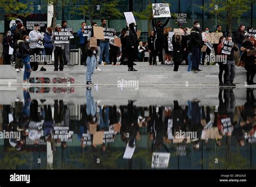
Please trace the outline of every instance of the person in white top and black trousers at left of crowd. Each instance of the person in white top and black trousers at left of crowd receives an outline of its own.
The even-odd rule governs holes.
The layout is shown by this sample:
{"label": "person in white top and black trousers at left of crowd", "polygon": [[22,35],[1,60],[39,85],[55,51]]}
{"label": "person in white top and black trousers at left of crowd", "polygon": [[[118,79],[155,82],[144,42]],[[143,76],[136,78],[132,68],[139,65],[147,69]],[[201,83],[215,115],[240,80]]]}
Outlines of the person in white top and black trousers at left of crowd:
{"label": "person in white top and black trousers at left of crowd", "polygon": [[[34,25],[34,30],[30,31],[29,33],[29,47],[32,49],[32,55],[37,57],[40,52],[40,48],[37,47],[37,42],[41,39],[41,32],[39,32],[39,25]],[[33,71],[37,71],[38,69],[38,62],[37,58],[34,58],[35,61],[31,61],[31,67]]]}

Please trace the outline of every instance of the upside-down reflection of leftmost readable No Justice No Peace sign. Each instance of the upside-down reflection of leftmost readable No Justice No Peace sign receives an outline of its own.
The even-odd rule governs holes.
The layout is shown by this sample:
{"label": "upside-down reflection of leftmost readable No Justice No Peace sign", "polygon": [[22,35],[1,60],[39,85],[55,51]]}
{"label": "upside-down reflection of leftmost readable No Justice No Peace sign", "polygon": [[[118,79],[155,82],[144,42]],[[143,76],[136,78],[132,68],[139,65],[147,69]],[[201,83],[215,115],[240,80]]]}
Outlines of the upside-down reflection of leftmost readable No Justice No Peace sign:
{"label": "upside-down reflection of leftmost readable No Justice No Peace sign", "polygon": [[69,127],[53,127],[53,139],[60,139],[62,142],[72,142],[72,133]]}

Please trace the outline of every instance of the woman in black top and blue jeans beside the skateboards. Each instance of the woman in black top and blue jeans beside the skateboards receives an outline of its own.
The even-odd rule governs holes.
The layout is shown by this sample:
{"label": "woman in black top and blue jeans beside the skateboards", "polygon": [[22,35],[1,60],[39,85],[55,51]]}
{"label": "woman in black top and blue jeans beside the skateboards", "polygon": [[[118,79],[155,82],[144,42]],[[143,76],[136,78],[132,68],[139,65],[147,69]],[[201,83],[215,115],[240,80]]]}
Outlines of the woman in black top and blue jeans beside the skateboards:
{"label": "woman in black top and blue jeans beside the skateboards", "polygon": [[28,79],[30,78],[30,74],[32,72],[32,68],[30,66],[30,54],[32,53],[32,50],[29,47],[29,36],[24,35],[22,39],[23,40],[17,41],[17,44],[19,46],[18,58],[21,58],[23,64],[25,65],[23,85],[28,85]]}

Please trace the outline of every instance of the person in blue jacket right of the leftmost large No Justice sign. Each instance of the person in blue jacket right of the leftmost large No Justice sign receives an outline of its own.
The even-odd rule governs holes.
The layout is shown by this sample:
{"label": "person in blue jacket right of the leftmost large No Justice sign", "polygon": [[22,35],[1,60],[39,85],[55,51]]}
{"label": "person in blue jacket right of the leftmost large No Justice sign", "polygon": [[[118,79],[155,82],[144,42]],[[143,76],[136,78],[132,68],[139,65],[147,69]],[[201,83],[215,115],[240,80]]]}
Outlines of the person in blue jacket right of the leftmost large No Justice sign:
{"label": "person in blue jacket right of the leftmost large No Justice sign", "polygon": [[86,65],[86,44],[87,44],[87,36],[83,36],[85,22],[81,23],[81,28],[78,30],[77,35],[79,37],[80,49],[82,51],[82,64]]}

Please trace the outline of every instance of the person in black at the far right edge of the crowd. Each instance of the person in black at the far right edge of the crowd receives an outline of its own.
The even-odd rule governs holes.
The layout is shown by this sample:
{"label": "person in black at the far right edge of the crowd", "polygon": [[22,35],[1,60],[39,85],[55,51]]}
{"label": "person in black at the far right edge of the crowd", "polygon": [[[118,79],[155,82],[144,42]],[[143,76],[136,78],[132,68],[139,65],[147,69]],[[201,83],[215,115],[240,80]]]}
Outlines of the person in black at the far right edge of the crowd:
{"label": "person in black at the far right edge of the crowd", "polygon": [[255,85],[255,83],[253,82],[253,78],[255,75],[255,66],[254,65],[254,61],[255,61],[255,57],[254,56],[247,56],[247,52],[250,50],[254,50],[254,38],[252,37],[252,39],[245,39],[244,42],[242,43],[242,47],[240,49],[240,51],[244,51],[244,53],[242,53],[241,55],[241,61],[244,62],[245,64],[245,70],[246,72],[246,82],[247,85]]}

